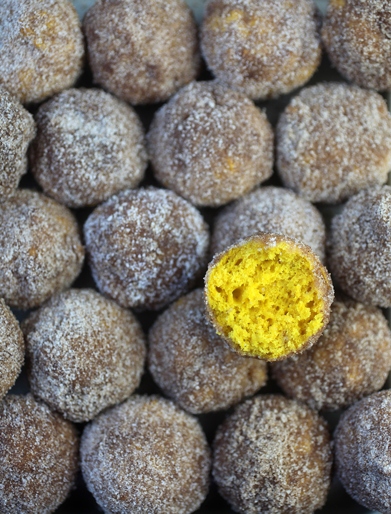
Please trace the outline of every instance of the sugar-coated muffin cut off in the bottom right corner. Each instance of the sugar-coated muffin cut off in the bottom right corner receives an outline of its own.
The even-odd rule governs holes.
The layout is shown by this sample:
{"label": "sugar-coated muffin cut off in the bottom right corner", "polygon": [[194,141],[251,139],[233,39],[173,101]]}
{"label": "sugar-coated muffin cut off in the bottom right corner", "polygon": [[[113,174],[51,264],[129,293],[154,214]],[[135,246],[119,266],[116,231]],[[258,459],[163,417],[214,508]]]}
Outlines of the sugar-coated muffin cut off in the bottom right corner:
{"label": "sugar-coated muffin cut off in the bottom right corner", "polygon": [[391,511],[391,391],[355,403],[334,433],[337,475],[356,502],[371,510]]}

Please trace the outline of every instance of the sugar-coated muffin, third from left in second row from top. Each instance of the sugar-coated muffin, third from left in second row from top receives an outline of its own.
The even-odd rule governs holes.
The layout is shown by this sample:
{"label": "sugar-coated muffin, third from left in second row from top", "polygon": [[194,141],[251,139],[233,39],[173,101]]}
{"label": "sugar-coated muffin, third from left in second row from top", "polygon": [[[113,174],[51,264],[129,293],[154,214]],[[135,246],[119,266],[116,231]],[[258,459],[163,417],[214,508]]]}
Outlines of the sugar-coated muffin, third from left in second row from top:
{"label": "sugar-coated muffin, third from left in second row from top", "polygon": [[273,131],[245,95],[214,81],[192,82],[152,120],[155,177],[194,205],[217,207],[273,172]]}

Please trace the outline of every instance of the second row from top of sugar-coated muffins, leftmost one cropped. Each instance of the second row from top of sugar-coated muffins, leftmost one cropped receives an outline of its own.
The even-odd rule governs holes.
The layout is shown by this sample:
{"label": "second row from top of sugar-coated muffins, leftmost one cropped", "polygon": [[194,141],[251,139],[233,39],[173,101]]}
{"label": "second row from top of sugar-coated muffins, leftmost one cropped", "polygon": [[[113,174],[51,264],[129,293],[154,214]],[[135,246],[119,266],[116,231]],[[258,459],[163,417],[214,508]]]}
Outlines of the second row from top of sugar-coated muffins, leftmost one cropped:
{"label": "second row from top of sugar-coated muffins, leftmost one cropped", "polygon": [[[99,89],[72,88],[31,115],[4,91],[1,198],[31,171],[43,190],[72,208],[94,206],[140,184],[149,154],[154,177],[200,207],[218,207],[264,182],[273,155],[283,185],[315,203],[340,203],[383,184],[390,167],[391,116],[375,91],[343,83],[304,88],[273,131],[243,94],[192,82],[155,113],[145,144],[131,106]],[[15,123],[10,119],[15,118]],[[17,142],[17,143],[16,143]],[[7,156],[7,157],[6,157]]]}

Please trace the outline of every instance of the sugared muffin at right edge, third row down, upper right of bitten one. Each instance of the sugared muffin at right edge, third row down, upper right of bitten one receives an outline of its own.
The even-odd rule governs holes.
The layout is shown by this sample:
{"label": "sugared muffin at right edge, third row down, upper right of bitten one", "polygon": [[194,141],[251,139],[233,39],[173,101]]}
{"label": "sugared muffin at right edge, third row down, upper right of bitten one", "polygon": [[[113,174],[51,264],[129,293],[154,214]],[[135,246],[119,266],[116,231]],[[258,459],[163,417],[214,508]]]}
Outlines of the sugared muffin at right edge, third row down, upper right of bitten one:
{"label": "sugared muffin at right edge, third row down, upper right of bitten one", "polygon": [[333,278],[352,298],[391,306],[391,187],[351,197],[331,220],[328,263]]}

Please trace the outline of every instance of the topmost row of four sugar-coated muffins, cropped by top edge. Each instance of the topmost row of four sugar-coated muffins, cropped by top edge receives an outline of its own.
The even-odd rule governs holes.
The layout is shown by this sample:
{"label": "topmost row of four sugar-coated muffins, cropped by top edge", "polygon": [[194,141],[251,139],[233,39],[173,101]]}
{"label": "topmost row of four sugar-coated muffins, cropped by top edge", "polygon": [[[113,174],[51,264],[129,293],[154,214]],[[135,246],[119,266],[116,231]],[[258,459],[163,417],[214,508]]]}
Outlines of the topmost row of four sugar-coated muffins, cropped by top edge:
{"label": "topmost row of four sugar-coated muffins, cropped by top edge", "polygon": [[[389,6],[331,0],[214,0],[200,28],[206,64],[219,82],[252,99],[289,93],[316,71],[322,52],[364,87],[391,88]],[[23,103],[70,87],[87,57],[94,81],[132,104],[167,100],[201,69],[198,28],[184,2],[95,2],[83,18],[67,1],[2,4],[0,83]],[[15,37],[15,34],[17,36]]]}

